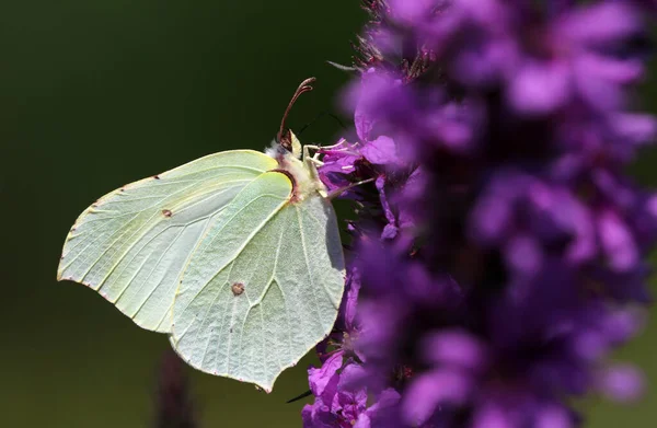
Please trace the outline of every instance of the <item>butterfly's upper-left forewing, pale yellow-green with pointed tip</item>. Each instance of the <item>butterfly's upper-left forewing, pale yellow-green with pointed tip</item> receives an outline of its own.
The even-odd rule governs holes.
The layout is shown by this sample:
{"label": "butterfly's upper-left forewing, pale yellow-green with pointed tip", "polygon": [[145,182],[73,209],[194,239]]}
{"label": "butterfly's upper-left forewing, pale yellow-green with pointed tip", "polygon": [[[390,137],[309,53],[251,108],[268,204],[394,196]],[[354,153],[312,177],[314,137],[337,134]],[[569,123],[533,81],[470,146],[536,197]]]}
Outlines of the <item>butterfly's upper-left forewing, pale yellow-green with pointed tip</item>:
{"label": "butterfly's upper-left forewing, pale yellow-green with pointed tip", "polygon": [[143,328],[170,332],[196,245],[235,195],[276,165],[256,151],[226,151],[105,195],[69,232],[57,278],[96,290]]}

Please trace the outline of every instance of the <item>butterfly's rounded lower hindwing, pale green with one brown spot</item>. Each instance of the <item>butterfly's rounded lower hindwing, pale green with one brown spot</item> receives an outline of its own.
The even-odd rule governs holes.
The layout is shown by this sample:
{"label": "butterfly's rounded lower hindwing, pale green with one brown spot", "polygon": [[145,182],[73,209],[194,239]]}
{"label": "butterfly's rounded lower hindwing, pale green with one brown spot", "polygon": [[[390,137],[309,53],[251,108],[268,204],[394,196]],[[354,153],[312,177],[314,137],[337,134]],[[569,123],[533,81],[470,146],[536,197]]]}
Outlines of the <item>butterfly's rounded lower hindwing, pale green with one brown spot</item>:
{"label": "butterfly's rounded lower hindwing, pale green with one brown spot", "polygon": [[205,372],[270,391],[332,329],[344,289],[335,212],[290,204],[286,175],[250,183],[203,238],[173,305],[171,342]]}

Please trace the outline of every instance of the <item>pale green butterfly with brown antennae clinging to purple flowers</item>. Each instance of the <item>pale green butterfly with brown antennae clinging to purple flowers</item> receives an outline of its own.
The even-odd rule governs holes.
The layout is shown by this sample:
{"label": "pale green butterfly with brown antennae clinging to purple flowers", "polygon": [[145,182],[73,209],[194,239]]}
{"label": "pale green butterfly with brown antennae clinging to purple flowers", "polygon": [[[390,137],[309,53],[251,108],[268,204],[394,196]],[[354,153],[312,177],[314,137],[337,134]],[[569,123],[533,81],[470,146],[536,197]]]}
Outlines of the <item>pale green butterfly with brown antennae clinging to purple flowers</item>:
{"label": "pale green butterfly with brown antennae clinging to purple flowers", "polygon": [[[295,100],[312,89],[304,81]],[[168,333],[191,366],[270,391],[332,329],[345,266],[335,211],[291,131],[128,184],[69,232],[57,278]]]}

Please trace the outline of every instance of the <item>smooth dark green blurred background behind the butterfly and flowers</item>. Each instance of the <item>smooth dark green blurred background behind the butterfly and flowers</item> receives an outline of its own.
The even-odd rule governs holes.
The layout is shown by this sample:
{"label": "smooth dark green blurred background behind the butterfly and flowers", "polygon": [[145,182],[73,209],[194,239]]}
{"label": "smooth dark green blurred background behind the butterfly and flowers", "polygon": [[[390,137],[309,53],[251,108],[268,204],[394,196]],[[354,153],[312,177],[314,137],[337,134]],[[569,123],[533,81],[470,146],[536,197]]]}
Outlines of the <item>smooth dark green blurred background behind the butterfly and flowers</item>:
{"label": "smooth dark green blurred background behind the butterfly and flowers", "polygon": [[[323,112],[349,76],[357,0],[20,0],[0,3],[0,426],[150,427],[163,335],[92,290],[56,282],[64,239],[101,195],[204,154],[261,150],[298,83],[318,78],[288,125],[304,142],[341,132]],[[655,68],[653,68],[655,69]],[[657,76],[642,91],[657,111]],[[657,152],[635,174],[657,185]],[[653,287],[655,289],[655,287]],[[587,426],[657,420],[657,311],[618,354],[648,393],[578,402]],[[204,428],[296,427],[307,357],[269,395],[186,370]]]}

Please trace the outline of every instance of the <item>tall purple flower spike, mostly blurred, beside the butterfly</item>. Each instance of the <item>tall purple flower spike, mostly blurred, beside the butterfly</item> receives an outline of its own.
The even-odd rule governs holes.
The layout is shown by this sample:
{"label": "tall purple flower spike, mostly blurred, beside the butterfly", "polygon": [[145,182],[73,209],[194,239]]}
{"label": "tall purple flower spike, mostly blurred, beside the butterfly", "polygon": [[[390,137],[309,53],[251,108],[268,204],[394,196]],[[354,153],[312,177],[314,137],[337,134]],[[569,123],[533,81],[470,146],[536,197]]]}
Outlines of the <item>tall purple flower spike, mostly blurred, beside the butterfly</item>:
{"label": "tall purple flower spike, mostly blurred, beside the butterfly", "polygon": [[[345,91],[346,293],[306,427],[570,428],[573,397],[645,390],[657,194],[625,174],[657,122],[647,0],[362,0]],[[632,106],[632,108],[630,108]],[[359,183],[356,186],[351,186]]]}

